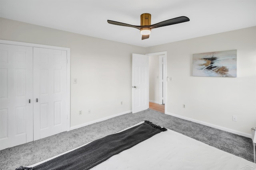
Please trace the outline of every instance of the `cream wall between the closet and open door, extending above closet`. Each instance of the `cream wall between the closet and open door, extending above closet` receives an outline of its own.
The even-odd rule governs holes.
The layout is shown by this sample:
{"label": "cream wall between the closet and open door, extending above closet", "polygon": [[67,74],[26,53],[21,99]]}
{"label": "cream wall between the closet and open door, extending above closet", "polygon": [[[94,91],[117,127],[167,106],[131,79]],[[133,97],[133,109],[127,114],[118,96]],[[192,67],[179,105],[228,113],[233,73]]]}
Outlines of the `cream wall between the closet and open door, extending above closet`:
{"label": "cream wall between the closet and open door, extending above closet", "polygon": [[132,53],[145,48],[4,18],[0,30],[0,39],[70,48],[71,129],[131,111]]}

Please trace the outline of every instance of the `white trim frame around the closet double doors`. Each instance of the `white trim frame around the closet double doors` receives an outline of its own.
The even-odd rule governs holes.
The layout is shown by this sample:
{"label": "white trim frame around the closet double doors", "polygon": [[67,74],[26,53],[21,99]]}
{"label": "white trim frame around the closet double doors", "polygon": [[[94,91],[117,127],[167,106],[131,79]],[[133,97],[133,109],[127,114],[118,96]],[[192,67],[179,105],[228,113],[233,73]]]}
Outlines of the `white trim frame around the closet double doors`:
{"label": "white trim frame around the closet double doors", "polygon": [[34,44],[34,43],[24,43],[19,41],[8,41],[0,39],[1,44],[8,44],[8,45],[20,45],[20,46],[27,46],[27,47],[38,47],[38,48],[46,48],[46,49],[56,49],[56,50],[63,50],[67,51],[67,97],[68,97],[68,116],[67,116],[67,131],[70,131],[70,48],[66,47],[56,47],[51,45],[41,45],[41,44]]}

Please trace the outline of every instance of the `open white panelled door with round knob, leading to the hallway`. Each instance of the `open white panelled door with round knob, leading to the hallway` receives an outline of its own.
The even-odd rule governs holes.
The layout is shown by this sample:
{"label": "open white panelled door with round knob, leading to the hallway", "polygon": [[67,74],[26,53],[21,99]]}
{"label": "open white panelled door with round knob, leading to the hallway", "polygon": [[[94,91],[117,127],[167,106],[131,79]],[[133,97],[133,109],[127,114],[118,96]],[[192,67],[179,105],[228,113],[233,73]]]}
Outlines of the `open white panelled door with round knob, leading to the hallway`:
{"label": "open white panelled door with round knob, leading to the hallway", "polygon": [[132,54],[132,113],[149,108],[149,58]]}

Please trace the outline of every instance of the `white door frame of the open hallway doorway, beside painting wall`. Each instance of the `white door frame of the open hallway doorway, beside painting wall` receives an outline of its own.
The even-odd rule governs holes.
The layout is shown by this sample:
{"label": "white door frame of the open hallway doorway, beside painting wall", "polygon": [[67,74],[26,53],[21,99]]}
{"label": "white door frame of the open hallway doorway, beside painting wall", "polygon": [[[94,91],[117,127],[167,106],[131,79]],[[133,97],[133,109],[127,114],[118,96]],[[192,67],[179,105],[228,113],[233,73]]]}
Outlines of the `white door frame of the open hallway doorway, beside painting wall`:
{"label": "white door frame of the open hallway doorway, beside painting wall", "polygon": [[[165,69],[163,70],[164,72],[163,72],[163,76],[165,76],[165,77],[163,77],[163,83],[164,83],[164,86],[163,86],[163,88],[162,88],[162,90],[164,91],[163,92],[163,94],[164,94],[164,96],[163,96],[163,98],[164,98],[164,112],[166,113],[166,109],[167,109],[167,81],[166,81],[166,73],[167,73],[167,51],[161,51],[161,52],[156,52],[156,53],[148,53],[148,54],[146,54],[146,55],[148,55],[148,56],[152,56],[152,55],[158,55],[159,57],[160,56],[162,56],[162,57],[165,57],[166,58],[166,60],[164,60],[164,62],[163,62],[163,66],[165,67]],[[159,64],[160,65],[160,64]],[[160,69],[160,68],[159,68]],[[150,76],[150,75],[149,75]],[[160,79],[159,79],[159,83],[160,83]],[[162,90],[160,90],[160,86],[159,86],[159,92],[161,92]],[[164,89],[165,88],[165,89]],[[160,100],[160,99],[159,99]]]}

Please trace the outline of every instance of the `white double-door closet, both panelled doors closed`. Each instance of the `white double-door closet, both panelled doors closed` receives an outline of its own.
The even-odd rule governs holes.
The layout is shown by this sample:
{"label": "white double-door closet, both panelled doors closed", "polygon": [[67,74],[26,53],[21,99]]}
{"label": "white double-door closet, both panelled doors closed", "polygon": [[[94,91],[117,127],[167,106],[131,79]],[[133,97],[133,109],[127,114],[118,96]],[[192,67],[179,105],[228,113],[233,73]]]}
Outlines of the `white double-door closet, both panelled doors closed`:
{"label": "white double-door closet, both panelled doors closed", "polygon": [[67,50],[33,45],[0,43],[0,150],[69,130]]}

